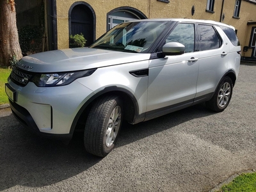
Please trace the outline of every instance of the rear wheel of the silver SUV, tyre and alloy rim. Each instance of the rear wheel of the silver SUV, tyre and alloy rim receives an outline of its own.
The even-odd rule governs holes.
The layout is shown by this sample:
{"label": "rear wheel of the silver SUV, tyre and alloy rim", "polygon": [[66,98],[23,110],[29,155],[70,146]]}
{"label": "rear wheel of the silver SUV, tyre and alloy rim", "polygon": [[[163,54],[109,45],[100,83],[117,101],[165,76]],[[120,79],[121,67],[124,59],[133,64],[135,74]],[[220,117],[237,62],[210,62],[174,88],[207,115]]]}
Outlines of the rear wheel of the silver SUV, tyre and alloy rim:
{"label": "rear wheel of the silver SUV, tyre and alloy rim", "polygon": [[207,108],[215,112],[224,111],[232,97],[233,83],[230,77],[224,77],[218,85],[211,100],[206,102]]}

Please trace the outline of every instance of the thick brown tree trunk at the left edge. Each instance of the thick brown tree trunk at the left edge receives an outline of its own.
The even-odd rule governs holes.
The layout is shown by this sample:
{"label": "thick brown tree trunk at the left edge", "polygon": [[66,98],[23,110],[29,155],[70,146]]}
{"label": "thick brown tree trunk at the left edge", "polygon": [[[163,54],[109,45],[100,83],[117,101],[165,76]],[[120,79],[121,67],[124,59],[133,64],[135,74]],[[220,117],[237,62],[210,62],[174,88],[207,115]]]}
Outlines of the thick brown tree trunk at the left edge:
{"label": "thick brown tree trunk at the left edge", "polygon": [[15,3],[14,0],[0,0],[0,66],[10,66],[15,58],[22,58]]}

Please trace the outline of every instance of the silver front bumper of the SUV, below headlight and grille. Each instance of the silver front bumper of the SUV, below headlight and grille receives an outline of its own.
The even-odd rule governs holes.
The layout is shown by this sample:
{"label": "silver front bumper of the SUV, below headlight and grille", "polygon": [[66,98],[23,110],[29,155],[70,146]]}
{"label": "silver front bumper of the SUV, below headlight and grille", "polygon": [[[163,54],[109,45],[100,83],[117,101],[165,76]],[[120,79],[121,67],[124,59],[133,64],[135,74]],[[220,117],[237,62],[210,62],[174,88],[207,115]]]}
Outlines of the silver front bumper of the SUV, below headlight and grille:
{"label": "silver front bumper of the SUV, below headlight and grille", "polygon": [[22,87],[9,80],[8,86],[15,92],[10,106],[17,120],[42,136],[60,139],[72,138],[76,115],[93,95],[92,90],[76,81],[38,88],[34,83]]}

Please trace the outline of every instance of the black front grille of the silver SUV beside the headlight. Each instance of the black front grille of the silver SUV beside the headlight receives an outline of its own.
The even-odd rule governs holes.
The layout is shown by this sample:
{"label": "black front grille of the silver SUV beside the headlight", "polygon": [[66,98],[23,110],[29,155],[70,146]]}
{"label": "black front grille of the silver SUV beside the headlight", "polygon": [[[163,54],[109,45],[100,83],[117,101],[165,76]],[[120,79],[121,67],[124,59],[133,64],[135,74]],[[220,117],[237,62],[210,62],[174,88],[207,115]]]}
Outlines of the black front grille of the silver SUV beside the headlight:
{"label": "black front grille of the silver SUV beside the headlight", "polygon": [[28,84],[31,77],[32,77],[31,74],[23,72],[17,67],[13,67],[12,72],[10,74],[10,78],[12,79],[12,81],[16,84],[19,84],[20,86],[26,86],[26,84]]}

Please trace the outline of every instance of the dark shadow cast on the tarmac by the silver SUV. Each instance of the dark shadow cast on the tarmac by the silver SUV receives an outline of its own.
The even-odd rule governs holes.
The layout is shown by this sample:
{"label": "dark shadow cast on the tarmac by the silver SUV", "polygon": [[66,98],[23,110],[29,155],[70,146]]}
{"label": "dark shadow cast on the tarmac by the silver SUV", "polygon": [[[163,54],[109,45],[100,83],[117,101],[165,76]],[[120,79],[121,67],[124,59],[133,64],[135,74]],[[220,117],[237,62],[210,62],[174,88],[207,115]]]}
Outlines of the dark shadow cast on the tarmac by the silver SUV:
{"label": "dark shadow cast on the tarmac by the silver SUV", "polygon": [[[212,114],[203,105],[197,105],[137,125],[124,123],[116,147]],[[0,116],[0,125],[0,191],[16,185],[49,186],[82,173],[102,160],[84,151],[81,134],[75,134],[70,144],[64,145],[61,141],[36,136],[12,115]]]}

